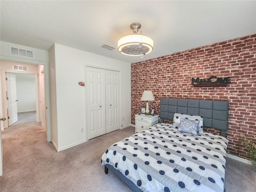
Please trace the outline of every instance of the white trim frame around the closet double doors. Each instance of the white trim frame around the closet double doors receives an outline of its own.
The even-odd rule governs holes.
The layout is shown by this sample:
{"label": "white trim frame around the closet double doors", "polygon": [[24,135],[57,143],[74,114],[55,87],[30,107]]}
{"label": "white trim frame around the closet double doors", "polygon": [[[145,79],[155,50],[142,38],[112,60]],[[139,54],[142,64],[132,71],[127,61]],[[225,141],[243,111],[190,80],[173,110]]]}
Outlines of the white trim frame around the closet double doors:
{"label": "white trim frame around the closet double doors", "polygon": [[[120,122],[121,122],[121,127],[120,129],[122,129],[123,127],[123,124],[122,124],[122,71],[121,70],[118,70],[118,69],[114,69],[114,68],[106,68],[106,66],[97,66],[97,65],[92,65],[92,64],[88,64],[88,63],[84,63],[84,80],[86,81],[86,67],[93,67],[93,68],[100,68],[100,69],[104,69],[104,70],[112,70],[112,71],[117,71],[119,72],[120,74]],[[88,141],[88,134],[87,134],[87,131],[88,131],[88,127],[87,127],[87,118],[88,118],[88,115],[87,115],[87,96],[86,96],[86,87],[84,88],[84,100],[85,100],[85,111],[84,111],[84,114],[85,114],[85,122],[84,122],[84,125],[85,125],[85,133],[86,133],[86,141]]]}

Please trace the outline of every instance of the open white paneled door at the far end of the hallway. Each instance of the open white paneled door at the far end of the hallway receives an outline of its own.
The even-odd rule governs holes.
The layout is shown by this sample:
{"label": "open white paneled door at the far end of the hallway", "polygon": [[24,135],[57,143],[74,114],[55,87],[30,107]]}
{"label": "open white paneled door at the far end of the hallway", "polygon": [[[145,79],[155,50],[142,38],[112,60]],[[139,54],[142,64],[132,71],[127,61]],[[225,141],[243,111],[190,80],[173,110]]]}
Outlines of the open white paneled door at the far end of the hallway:
{"label": "open white paneled door at the far end of the hallway", "polygon": [[16,76],[6,73],[7,77],[7,108],[8,108],[8,126],[18,121],[17,96],[16,96]]}

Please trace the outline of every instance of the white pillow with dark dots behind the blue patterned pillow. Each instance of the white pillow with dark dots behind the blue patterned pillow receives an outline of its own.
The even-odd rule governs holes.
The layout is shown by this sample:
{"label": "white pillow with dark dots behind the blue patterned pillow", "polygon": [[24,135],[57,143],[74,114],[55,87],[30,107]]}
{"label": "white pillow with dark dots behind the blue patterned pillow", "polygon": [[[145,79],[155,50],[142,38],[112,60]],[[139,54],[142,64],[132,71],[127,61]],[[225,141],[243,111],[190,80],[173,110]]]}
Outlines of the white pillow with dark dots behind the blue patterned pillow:
{"label": "white pillow with dark dots behind the blue patterned pillow", "polygon": [[175,128],[179,128],[180,126],[180,118],[184,119],[190,119],[190,120],[199,120],[198,124],[198,132],[200,134],[204,133],[204,120],[203,117],[197,116],[197,115],[187,115],[187,114],[181,114],[181,113],[174,113],[173,115],[173,124],[172,126]]}

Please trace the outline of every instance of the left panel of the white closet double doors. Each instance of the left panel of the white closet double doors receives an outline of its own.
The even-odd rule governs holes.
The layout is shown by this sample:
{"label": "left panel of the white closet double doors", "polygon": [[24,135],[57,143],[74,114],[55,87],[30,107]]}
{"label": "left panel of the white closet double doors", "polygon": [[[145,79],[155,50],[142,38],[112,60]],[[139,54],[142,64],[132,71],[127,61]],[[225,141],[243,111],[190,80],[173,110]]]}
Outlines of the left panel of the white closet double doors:
{"label": "left panel of the white closet double doors", "polygon": [[105,70],[86,67],[88,139],[106,134]]}

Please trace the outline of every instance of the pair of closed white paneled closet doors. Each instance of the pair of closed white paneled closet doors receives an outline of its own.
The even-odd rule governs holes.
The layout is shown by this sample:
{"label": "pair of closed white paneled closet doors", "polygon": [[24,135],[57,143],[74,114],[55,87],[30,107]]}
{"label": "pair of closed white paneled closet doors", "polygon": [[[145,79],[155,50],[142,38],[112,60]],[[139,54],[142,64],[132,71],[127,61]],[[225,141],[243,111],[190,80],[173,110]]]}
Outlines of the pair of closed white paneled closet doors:
{"label": "pair of closed white paneled closet doors", "polygon": [[86,67],[88,139],[121,128],[120,72]]}

